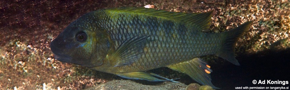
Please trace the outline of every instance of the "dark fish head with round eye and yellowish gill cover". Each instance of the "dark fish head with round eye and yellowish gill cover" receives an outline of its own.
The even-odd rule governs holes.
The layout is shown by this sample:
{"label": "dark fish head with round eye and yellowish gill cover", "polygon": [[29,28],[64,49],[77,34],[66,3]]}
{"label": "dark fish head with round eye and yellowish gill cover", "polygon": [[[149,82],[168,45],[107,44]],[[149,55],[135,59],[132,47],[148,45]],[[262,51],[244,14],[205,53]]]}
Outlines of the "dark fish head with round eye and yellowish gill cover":
{"label": "dark fish head with round eye and yellowish gill cover", "polygon": [[72,22],[50,43],[56,60],[85,67],[101,65],[110,43],[106,33],[96,29],[90,23]]}

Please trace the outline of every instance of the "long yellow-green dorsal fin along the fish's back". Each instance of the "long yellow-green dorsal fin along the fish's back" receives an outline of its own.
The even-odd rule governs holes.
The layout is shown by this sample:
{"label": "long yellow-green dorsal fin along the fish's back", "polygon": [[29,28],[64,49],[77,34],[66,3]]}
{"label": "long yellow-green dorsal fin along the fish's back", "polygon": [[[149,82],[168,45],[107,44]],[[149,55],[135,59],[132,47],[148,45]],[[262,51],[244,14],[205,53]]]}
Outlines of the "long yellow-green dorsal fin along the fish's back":
{"label": "long yellow-green dorsal fin along the fish's back", "polygon": [[156,16],[174,21],[192,24],[199,28],[198,30],[208,30],[211,22],[212,11],[206,13],[185,13],[185,12],[170,12],[165,10],[156,10],[153,8],[144,7],[118,7],[104,9],[113,12],[137,13],[148,16]]}

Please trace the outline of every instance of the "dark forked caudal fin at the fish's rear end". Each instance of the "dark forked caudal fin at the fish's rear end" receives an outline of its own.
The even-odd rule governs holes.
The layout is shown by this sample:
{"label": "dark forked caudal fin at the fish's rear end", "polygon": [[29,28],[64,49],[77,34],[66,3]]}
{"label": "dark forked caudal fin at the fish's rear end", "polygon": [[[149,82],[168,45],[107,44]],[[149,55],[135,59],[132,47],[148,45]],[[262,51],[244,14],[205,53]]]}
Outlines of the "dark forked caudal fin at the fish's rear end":
{"label": "dark forked caudal fin at the fish's rear end", "polygon": [[243,32],[246,32],[249,30],[252,23],[253,23],[252,21],[249,21],[242,24],[241,26],[238,26],[235,29],[222,32],[222,34],[226,37],[225,43],[223,44],[221,50],[219,50],[215,55],[221,58],[224,58],[235,65],[240,65],[234,55],[235,45],[238,38],[243,34]]}

